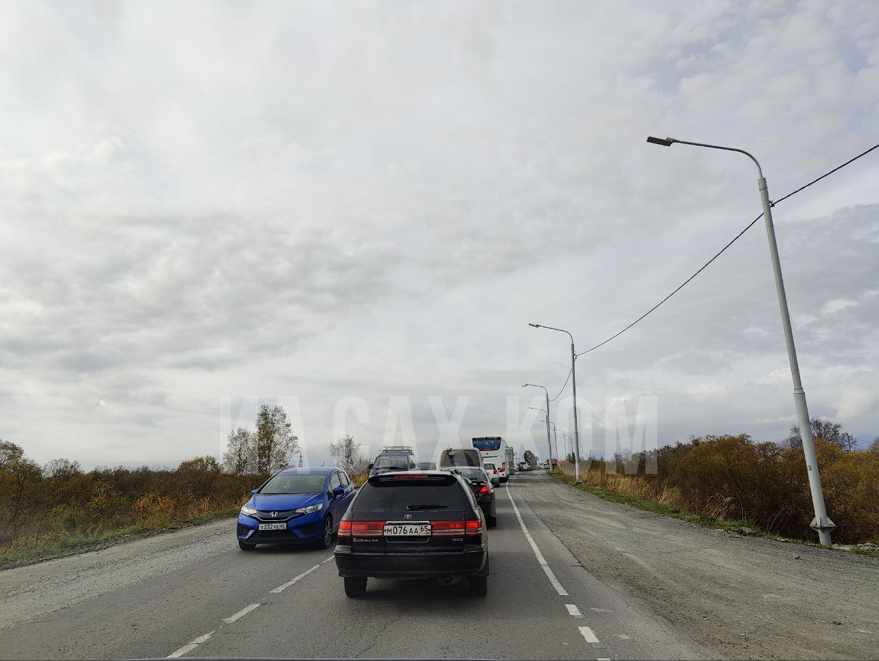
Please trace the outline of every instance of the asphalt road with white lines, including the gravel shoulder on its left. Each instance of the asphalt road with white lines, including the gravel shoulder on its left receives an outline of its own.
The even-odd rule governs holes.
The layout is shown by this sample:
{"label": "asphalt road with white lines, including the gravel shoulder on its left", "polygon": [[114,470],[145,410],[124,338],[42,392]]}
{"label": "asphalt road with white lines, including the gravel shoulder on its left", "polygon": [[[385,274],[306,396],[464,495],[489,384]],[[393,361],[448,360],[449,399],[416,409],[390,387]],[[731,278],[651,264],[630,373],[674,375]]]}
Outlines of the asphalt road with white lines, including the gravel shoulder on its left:
{"label": "asphalt road with white lines, including the gravel shoulder on its left", "polygon": [[546,476],[508,486],[487,597],[370,579],[347,599],[330,551],[245,553],[224,520],[0,572],[0,656],[716,657],[584,569],[522,498]]}

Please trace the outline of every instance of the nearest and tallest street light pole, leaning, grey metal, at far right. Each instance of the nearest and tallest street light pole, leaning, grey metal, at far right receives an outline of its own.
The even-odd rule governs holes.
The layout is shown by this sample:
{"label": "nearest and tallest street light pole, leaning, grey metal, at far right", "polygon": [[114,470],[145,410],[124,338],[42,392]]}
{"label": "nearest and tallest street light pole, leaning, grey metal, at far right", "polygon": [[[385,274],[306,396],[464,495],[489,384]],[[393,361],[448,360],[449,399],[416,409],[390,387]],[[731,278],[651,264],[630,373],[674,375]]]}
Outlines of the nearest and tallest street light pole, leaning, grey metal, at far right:
{"label": "nearest and tallest street light pole, leaning, grey metal, at far right", "polygon": [[788,297],[784,291],[784,280],[781,277],[781,260],[778,257],[778,243],[775,241],[775,227],[772,222],[773,204],[769,201],[769,191],[766,188],[766,178],[760,163],[745,149],[734,147],[721,147],[720,145],[705,144],[703,142],[687,142],[675,138],[655,138],[652,135],[647,142],[671,147],[672,144],[693,145],[694,147],[707,147],[708,149],[723,149],[725,151],[737,151],[739,154],[748,156],[755,165],[759,178],[757,185],[760,191],[760,203],[763,205],[763,220],[766,221],[766,238],[769,242],[769,255],[772,258],[772,269],[775,276],[775,293],[778,295],[778,306],[781,309],[781,328],[784,331],[784,341],[788,345],[788,362],[790,374],[794,381],[794,403],[796,415],[800,421],[800,437],[803,439],[803,454],[806,458],[806,471],[809,475],[809,487],[812,494],[812,507],[815,510],[815,518],[810,527],[818,534],[818,540],[825,546],[832,546],[831,532],[836,527],[830,517],[827,516],[825,507],[824,490],[821,488],[821,474],[818,469],[817,454],[815,454],[815,439],[812,437],[812,425],[809,419],[809,408],[806,406],[806,391],[803,390],[803,381],[800,380],[800,366],[796,360],[796,347],[794,345],[794,331],[790,325],[790,313],[788,312]]}

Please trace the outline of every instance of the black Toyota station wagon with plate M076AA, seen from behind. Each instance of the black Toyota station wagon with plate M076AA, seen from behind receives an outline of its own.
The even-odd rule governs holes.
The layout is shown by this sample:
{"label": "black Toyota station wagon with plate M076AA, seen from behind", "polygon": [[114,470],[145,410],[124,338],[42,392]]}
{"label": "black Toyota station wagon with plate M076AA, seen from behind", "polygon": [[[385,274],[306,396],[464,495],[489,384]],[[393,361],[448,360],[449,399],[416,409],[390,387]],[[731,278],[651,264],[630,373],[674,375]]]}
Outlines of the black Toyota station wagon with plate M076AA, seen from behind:
{"label": "black Toyota station wagon with plate M076AA, seen from behind", "polygon": [[368,577],[466,578],[488,592],[488,534],[482,508],[461,476],[425,470],[382,473],[360,488],[339,522],[335,551],[345,594],[360,597]]}

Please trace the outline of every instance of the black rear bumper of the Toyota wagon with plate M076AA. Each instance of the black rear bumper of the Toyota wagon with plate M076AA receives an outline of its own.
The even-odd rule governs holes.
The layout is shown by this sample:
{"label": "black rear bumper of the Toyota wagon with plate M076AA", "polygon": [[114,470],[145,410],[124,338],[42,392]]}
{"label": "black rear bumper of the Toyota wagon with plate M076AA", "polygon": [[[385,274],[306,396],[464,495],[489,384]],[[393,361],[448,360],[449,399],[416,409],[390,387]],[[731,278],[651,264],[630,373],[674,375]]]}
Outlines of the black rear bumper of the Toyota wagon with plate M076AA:
{"label": "black rear bumper of the Toyota wagon with plate M076AA", "polygon": [[336,547],[338,575],[342,577],[432,578],[475,576],[485,570],[488,548],[444,554],[352,554]]}

